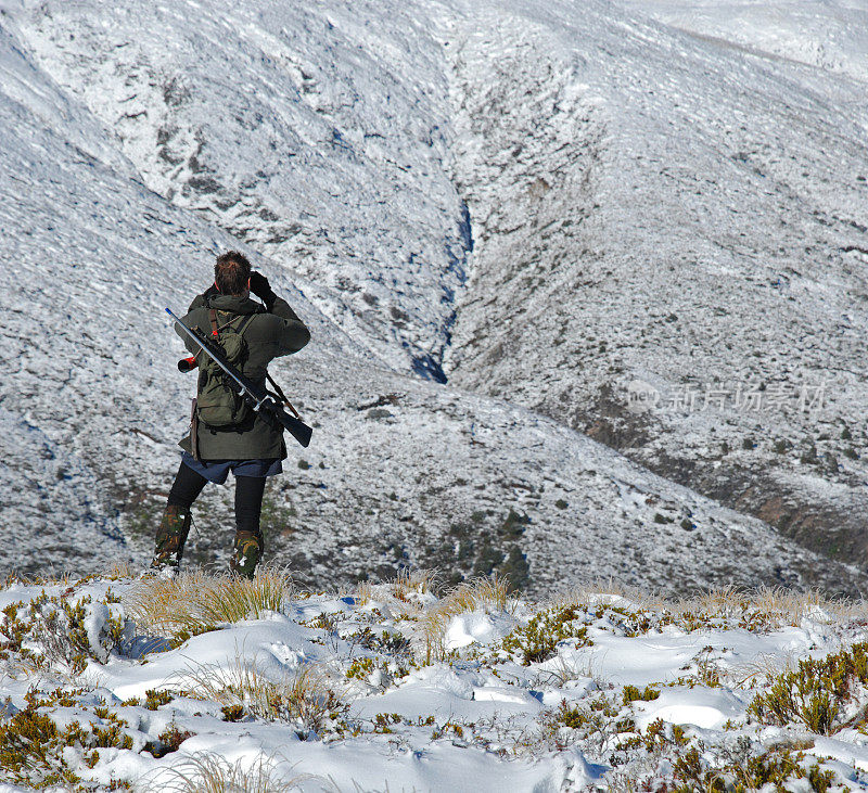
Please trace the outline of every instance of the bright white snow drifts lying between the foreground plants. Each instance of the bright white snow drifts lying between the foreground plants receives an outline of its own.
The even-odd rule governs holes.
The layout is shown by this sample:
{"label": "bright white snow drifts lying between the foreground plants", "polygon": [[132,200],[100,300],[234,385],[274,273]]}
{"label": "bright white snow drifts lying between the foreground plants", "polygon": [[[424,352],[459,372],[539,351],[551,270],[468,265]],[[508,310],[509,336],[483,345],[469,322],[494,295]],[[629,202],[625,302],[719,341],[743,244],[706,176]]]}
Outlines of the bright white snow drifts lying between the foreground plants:
{"label": "bright white snow drifts lying between the foreground plants", "polygon": [[[65,591],[67,597],[87,592],[101,602],[110,587],[129,598],[140,586],[135,579],[95,579],[69,581]],[[77,704],[43,706],[41,713],[48,713],[60,727],[88,722],[105,727],[116,716],[126,722],[124,734],[132,741],[131,749],[101,749],[92,769],[82,764],[79,750],[73,747],[65,750],[67,763],[76,773],[101,785],[122,779],[138,785],[138,790],[168,784],[170,769],[190,773],[190,762],[205,756],[240,764],[251,775],[265,763],[275,778],[296,780],[296,790],[310,792],[328,784],[337,790],[371,791],[600,791],[625,768],[639,773],[634,777],[638,785],[639,780],[651,778],[641,776],[648,773],[641,749],[614,749],[614,743],[600,737],[602,733],[579,739],[569,728],[561,728],[557,743],[541,740],[546,719],[562,703],[587,707],[603,698],[617,713],[613,720],[633,720],[633,727],[618,728],[618,739],[625,733],[650,734],[662,721],[680,726],[687,741],[702,742],[691,745],[705,749],[727,745],[736,738],[748,740],[756,752],[801,741],[808,746],[809,760],[818,759],[824,769],[839,773],[837,784],[846,780],[843,788],[832,790],[868,789],[868,778],[857,770],[868,771],[868,744],[860,731],[844,729],[825,737],[799,726],[752,722],[745,718],[748,706],[768,679],[758,672],[752,678],[738,674],[760,660],[768,669],[784,668],[801,657],[822,657],[847,648],[864,638],[860,617],[820,618],[806,605],[797,626],[748,630],[724,621],[719,628],[686,632],[664,625],[663,629],[651,628],[628,638],[613,630],[618,614],[641,607],[659,618],[664,614],[663,606],[649,610],[628,599],[589,592],[583,607],[592,611],[615,600],[617,607],[625,610],[592,622],[591,647],[576,649],[565,640],[552,658],[529,665],[516,663],[502,651],[500,638],[494,634],[506,635],[502,626],[507,624],[526,625],[545,605],[519,600],[510,611],[490,603],[484,611],[456,614],[444,638],[457,636],[456,626],[463,626],[462,630],[468,630],[462,638],[474,631],[478,639],[455,648],[443,661],[427,663],[412,651],[407,655],[405,651],[363,649],[353,638],[354,631],[368,626],[374,635],[398,630],[414,641],[422,630],[419,621],[424,610],[436,611],[445,602],[429,593],[426,606],[408,611],[396,591],[386,585],[374,587],[366,605],[358,605],[350,597],[305,592],[266,618],[226,624],[176,649],[150,652],[141,660],[115,650],[105,663],[92,661],[77,678],[64,679],[43,669],[34,679],[22,675],[14,658],[0,661],[0,699],[9,698],[12,706],[0,715],[0,726],[8,724],[15,708],[25,707],[24,694],[29,687],[36,686],[48,695],[62,686],[77,698]],[[34,588],[17,587],[3,590],[3,599],[14,596],[26,601],[37,593]],[[394,616],[383,616],[387,611]],[[329,615],[332,627],[311,627],[311,617],[318,614]],[[487,629],[478,630],[482,625]],[[719,685],[685,678],[692,674],[691,661],[703,651],[720,674]],[[406,674],[374,682],[350,677],[347,673],[353,662],[365,657],[409,668]],[[322,679],[349,703],[346,718],[355,728],[344,732],[315,730],[293,719],[253,716],[226,720],[219,702],[208,700],[196,685],[191,688],[191,675],[206,672],[229,679],[240,661],[253,664],[263,680],[285,679],[299,668],[324,675]],[[592,669],[591,677],[571,674],[571,669],[587,667]],[[559,675],[553,674],[556,669],[560,669]],[[627,685],[640,691],[651,687],[655,699],[622,705]],[[130,702],[130,698],[143,698],[149,689],[174,694],[156,709],[143,707],[141,701]],[[170,727],[191,734],[177,750],[157,758],[145,745]],[[616,755],[623,759],[615,763]],[[665,776],[667,762],[662,758],[651,776],[658,775],[654,778],[661,781],[659,775]],[[0,778],[2,775],[0,771]]]}

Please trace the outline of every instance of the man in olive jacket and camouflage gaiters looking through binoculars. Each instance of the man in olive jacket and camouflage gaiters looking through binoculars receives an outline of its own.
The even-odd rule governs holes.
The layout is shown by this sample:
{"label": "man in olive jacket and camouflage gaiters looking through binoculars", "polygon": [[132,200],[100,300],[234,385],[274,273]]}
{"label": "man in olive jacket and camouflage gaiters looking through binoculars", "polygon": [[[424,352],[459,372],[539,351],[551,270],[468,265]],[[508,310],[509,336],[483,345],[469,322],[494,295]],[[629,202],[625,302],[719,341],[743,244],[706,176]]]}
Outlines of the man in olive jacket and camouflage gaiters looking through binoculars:
{"label": "man in olive jacket and camouflage gaiters looking through binoculars", "polygon": [[[252,300],[251,292],[263,304]],[[251,271],[250,261],[237,251],[217,257],[214,285],[193,300],[183,321],[229,349],[233,363],[257,383],[265,382],[272,359],[296,353],[310,341],[304,322],[273,293],[265,276]],[[181,465],[157,528],[151,567],[167,577],[177,573],[193,501],[208,482],[221,485],[231,471],[235,476],[235,539],[230,568],[253,578],[264,551],[259,514],[265,481],[282,472],[281,460],[286,457],[282,427],[263,411],[247,408],[225,385],[220,373],[213,371],[205,353],[179,335],[200,367],[197,405],[190,434],[179,444]]]}

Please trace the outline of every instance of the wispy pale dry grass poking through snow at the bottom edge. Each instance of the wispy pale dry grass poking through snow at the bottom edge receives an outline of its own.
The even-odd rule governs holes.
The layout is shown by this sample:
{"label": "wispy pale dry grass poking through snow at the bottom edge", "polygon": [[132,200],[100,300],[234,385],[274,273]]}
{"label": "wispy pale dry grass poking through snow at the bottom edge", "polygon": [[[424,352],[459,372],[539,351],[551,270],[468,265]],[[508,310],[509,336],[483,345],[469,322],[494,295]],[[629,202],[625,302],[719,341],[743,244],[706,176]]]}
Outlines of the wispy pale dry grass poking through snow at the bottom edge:
{"label": "wispy pale dry grass poking through snow at the bottom edge", "polygon": [[143,779],[140,793],[291,793],[301,790],[303,782],[316,779],[308,775],[286,780],[277,770],[273,759],[260,756],[253,764],[197,753],[171,768],[161,769]]}

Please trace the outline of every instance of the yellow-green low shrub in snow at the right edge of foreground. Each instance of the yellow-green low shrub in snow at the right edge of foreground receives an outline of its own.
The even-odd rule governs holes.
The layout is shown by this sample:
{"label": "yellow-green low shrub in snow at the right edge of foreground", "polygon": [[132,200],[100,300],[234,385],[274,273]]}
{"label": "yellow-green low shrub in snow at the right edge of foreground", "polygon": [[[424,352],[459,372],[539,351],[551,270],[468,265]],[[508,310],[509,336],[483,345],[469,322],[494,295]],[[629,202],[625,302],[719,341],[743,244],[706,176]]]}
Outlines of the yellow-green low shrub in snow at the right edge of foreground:
{"label": "yellow-green low shrub in snow at the right edge of foreground", "polygon": [[825,658],[804,658],[796,669],[778,675],[754,698],[748,714],[764,725],[796,724],[830,736],[866,724],[856,702],[865,699],[866,686],[868,643],[854,644]]}

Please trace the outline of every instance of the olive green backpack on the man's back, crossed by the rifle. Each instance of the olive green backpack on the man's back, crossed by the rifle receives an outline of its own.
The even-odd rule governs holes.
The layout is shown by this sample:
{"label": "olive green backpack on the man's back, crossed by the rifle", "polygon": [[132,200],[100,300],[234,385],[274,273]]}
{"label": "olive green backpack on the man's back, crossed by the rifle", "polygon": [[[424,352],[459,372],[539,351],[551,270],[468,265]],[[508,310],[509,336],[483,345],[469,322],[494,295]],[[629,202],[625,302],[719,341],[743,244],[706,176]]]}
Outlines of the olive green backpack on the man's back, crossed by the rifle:
{"label": "olive green backpack on the man's back, crossed by the rifle", "polygon": [[[233,327],[235,319],[241,319],[240,316],[235,316],[220,328],[217,323],[217,311],[209,309],[213,329],[209,338],[220,347],[226,359],[238,370],[241,370],[247,359],[247,343],[242,334],[255,316],[252,314]],[[196,415],[203,424],[215,430],[227,430],[243,424],[253,412],[229,382],[224,370],[210,357],[203,355],[199,364]]]}

